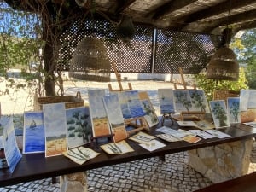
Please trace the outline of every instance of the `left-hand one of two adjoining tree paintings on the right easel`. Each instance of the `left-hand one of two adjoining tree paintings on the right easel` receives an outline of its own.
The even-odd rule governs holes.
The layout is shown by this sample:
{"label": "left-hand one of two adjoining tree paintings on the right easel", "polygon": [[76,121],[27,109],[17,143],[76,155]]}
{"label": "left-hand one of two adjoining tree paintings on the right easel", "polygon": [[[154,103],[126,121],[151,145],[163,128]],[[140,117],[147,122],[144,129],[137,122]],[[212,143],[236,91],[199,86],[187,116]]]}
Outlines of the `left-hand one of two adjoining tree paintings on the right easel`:
{"label": "left-hand one of two adjoining tree paintings on the right easel", "polygon": [[173,90],[177,111],[189,111],[192,103],[187,90]]}

